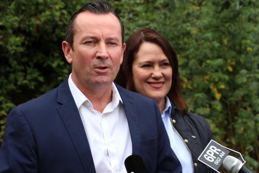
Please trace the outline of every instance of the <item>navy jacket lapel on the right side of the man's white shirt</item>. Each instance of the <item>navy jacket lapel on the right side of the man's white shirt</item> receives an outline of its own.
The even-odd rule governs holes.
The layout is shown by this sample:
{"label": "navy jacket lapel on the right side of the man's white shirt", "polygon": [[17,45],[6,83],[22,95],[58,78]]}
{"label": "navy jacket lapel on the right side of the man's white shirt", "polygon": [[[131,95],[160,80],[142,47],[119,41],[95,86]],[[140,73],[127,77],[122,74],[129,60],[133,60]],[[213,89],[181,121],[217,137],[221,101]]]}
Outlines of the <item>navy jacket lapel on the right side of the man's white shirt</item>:
{"label": "navy jacket lapel on the right side of the man's white shirt", "polygon": [[116,87],[120,93],[120,97],[123,101],[123,105],[126,112],[126,117],[128,120],[128,125],[130,128],[130,136],[132,141],[132,154],[140,153],[140,123],[138,117],[138,111],[136,104],[134,103],[134,98],[130,97],[130,92],[119,85]]}

